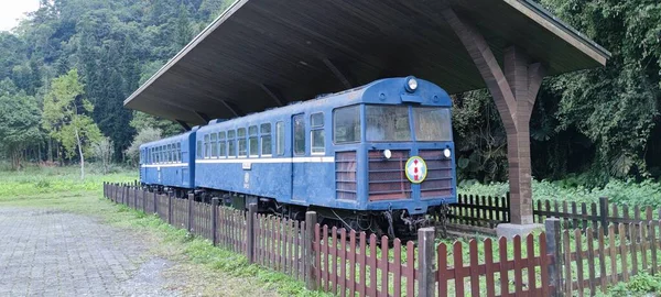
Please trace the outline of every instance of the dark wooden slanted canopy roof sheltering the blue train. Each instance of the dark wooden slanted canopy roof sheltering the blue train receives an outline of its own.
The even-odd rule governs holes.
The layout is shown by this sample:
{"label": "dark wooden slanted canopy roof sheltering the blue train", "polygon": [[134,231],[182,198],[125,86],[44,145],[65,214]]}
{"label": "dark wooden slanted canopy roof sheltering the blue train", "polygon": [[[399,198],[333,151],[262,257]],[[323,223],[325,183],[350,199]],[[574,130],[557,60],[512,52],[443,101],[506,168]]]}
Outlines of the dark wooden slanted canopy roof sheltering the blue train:
{"label": "dark wooden slanted canopy roof sheltering the blue train", "polygon": [[531,0],[239,0],[124,106],[204,124],[384,77],[414,75],[449,94],[484,88],[442,16],[447,6],[496,57],[517,45],[548,75],[603,66],[610,55]]}

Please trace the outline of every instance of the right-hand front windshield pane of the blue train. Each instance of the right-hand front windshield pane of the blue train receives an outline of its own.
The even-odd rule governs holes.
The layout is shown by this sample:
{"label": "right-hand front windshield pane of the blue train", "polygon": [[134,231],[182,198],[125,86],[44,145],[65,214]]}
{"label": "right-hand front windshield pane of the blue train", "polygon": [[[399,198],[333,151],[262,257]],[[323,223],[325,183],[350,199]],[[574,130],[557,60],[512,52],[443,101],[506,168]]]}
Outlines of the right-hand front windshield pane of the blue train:
{"label": "right-hand front windshield pane of the blue train", "polygon": [[448,108],[413,108],[416,141],[452,141]]}

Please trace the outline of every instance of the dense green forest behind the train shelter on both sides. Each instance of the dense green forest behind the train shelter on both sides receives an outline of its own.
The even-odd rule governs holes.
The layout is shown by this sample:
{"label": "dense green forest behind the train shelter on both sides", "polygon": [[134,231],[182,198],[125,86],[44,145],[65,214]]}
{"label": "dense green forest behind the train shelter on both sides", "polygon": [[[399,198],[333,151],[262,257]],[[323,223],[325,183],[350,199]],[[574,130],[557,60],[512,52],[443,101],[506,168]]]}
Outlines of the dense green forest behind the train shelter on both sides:
{"label": "dense green forest behind the train shelter on both sides", "polygon": [[[0,151],[13,168],[134,162],[177,133],[122,101],[232,0],[42,0],[0,32]],[[661,177],[661,3],[540,0],[613,53],[607,67],[546,78],[534,107],[535,179],[599,185]],[[485,90],[456,95],[459,179],[507,176],[506,135]],[[132,145],[133,144],[133,145]]]}

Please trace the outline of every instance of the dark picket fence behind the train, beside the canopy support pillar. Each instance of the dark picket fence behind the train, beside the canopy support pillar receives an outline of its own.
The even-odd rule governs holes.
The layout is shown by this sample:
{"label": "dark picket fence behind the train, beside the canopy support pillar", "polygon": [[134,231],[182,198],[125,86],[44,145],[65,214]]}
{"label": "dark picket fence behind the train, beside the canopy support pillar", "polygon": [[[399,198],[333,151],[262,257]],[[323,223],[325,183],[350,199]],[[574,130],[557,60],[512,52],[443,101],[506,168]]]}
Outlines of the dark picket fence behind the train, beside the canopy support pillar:
{"label": "dark picket fence behind the train, beside the canopy support pillar", "polygon": [[[508,197],[458,195],[457,202],[451,205],[449,209],[447,218],[451,227],[460,230],[496,234],[496,226],[510,221]],[[532,212],[535,222],[543,223],[548,218],[559,218],[564,229],[592,227],[594,230],[599,226],[608,228],[610,223],[638,224],[641,221],[661,219],[661,209],[619,206],[610,204],[608,198],[599,198],[598,202],[592,204],[537,200]]]}

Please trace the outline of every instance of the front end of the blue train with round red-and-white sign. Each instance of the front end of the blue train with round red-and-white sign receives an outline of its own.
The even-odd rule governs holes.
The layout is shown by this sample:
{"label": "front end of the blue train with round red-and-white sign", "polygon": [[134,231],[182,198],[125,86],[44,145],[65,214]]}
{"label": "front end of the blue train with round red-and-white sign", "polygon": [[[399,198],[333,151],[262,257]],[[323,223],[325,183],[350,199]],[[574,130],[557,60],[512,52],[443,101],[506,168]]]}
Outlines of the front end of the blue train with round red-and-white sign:
{"label": "front end of the blue train with round red-and-white sign", "polygon": [[349,150],[336,146],[337,197],[380,215],[389,234],[414,232],[456,201],[451,98],[407,77],[369,86],[361,101],[334,112],[335,144],[359,139]]}

